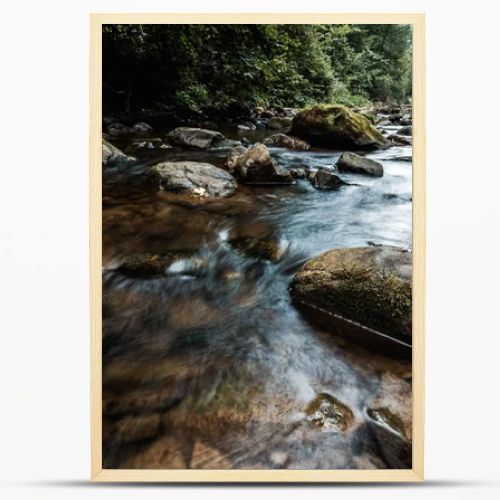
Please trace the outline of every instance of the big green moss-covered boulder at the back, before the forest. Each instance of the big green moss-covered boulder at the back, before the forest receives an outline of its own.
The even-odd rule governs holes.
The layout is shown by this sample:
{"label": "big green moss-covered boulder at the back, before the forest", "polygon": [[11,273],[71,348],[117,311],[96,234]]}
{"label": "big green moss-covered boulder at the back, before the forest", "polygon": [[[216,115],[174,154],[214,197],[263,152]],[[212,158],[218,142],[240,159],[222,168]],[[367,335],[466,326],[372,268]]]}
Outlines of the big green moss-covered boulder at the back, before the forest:
{"label": "big green moss-covered boulder at the back, before the forest", "polygon": [[313,146],[334,149],[370,150],[390,145],[368,118],[339,104],[302,110],[293,119],[291,134]]}

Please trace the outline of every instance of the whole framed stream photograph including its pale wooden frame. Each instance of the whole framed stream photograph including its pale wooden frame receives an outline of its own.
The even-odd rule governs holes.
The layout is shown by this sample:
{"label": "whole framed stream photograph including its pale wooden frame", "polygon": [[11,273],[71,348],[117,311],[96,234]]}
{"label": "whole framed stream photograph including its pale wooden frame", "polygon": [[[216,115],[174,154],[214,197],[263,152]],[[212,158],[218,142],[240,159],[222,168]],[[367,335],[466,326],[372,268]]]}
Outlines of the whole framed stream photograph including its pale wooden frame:
{"label": "whole framed stream photograph including its pale wooden frame", "polygon": [[423,14],[92,14],[97,481],[422,481]]}

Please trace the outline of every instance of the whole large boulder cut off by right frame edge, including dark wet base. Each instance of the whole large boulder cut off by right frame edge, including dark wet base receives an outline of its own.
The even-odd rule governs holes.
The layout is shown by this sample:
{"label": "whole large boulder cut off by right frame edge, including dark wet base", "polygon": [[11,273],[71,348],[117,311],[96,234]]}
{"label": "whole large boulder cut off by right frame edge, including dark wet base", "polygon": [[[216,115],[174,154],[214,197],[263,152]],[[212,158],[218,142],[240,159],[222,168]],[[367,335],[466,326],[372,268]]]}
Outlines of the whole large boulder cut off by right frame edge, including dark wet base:
{"label": "whole large boulder cut off by right frame edge, including dark wet base", "polygon": [[315,322],[365,347],[411,356],[412,254],[378,245],[330,250],[306,262],[291,286]]}

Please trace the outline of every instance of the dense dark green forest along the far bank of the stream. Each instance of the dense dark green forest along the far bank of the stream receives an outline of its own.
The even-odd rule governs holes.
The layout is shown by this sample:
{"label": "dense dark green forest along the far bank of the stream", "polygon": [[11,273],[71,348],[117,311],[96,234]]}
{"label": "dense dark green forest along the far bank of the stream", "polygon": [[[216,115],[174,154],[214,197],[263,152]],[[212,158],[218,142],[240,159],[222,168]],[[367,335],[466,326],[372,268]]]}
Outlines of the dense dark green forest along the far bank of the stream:
{"label": "dense dark green forest along the far bank of the stream", "polygon": [[405,103],[410,25],[105,25],[108,109]]}

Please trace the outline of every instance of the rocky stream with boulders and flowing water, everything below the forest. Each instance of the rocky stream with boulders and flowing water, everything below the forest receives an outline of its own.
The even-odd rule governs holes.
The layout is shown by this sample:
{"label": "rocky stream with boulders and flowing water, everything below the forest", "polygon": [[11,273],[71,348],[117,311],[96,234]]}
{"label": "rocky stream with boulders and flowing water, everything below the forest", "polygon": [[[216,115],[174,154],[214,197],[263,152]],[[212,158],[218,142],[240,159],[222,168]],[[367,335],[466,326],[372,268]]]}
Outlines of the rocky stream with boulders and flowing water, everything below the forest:
{"label": "rocky stream with boulders and flowing water, everything below the forest", "polygon": [[104,467],[411,466],[411,116],[357,111],[105,123]]}

